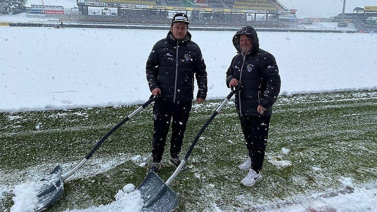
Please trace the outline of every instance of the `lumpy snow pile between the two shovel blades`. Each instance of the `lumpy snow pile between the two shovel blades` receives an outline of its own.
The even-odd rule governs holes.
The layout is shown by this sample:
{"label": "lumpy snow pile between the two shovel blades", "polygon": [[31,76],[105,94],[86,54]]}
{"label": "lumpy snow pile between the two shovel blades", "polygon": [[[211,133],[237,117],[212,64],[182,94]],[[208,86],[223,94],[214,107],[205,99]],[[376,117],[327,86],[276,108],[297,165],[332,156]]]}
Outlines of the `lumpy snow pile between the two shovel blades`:
{"label": "lumpy snow pile between the two shovel blades", "polygon": [[90,207],[83,210],[65,210],[64,212],[140,212],[144,206],[139,190],[133,184],[127,184],[115,195],[115,201],[107,205]]}

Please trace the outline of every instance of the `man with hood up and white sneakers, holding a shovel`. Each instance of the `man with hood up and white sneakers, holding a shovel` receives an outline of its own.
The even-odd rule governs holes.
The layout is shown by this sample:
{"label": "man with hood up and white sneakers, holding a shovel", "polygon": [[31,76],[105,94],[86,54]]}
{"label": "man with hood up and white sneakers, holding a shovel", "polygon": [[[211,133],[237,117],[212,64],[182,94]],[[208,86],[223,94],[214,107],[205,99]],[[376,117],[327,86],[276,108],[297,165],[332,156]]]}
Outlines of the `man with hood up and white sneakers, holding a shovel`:
{"label": "man with hood up and white sneakers, holding a shovel", "polygon": [[227,71],[228,87],[242,82],[235,94],[235,105],[248,149],[248,160],[239,165],[248,171],[241,181],[253,186],[262,180],[264,160],[272,105],[280,92],[280,76],[273,55],[259,48],[257,33],[251,26],[240,29],[233,37],[238,54],[233,57]]}

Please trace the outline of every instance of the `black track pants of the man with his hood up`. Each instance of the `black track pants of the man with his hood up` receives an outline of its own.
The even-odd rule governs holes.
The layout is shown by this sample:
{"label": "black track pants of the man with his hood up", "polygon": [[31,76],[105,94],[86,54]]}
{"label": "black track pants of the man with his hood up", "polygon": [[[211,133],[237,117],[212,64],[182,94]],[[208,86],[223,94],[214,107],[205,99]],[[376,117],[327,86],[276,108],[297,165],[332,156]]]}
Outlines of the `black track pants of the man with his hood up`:
{"label": "black track pants of the man with his hood up", "polygon": [[270,119],[271,116],[239,116],[248,155],[251,158],[251,168],[256,172],[262,169]]}

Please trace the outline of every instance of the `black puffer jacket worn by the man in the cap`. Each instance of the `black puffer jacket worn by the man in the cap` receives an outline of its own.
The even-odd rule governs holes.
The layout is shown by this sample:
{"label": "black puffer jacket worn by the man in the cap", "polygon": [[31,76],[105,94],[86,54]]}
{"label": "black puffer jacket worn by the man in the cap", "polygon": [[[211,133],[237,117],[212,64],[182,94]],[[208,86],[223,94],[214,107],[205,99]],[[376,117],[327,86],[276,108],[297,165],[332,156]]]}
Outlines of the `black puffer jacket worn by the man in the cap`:
{"label": "black puffer jacket worn by the man in the cap", "polygon": [[194,74],[198,81],[198,95],[207,96],[207,72],[199,46],[191,41],[191,34],[177,41],[169,31],[167,37],[158,41],[150,52],[147,67],[149,89],[161,89],[161,97],[172,101],[193,99]]}

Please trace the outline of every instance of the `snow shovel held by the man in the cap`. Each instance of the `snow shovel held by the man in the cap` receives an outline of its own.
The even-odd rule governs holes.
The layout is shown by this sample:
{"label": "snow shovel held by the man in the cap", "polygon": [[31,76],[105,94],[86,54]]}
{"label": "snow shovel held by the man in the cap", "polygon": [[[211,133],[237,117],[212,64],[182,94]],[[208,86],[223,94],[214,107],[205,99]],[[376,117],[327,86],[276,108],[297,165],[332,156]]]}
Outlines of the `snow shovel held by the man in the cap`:
{"label": "snow shovel held by the man in the cap", "polygon": [[37,195],[38,204],[37,209],[34,212],[39,212],[46,210],[49,206],[51,206],[55,201],[57,201],[63,195],[63,182],[66,180],[70,175],[74,174],[78,169],[80,169],[83,164],[89,160],[90,157],[94,154],[94,152],[100,147],[100,145],[105,141],[116,129],[120,128],[124,123],[130,120],[134,115],[140,112],[142,109],[146,108],[150,103],[155,101],[158,96],[153,97],[150,96],[149,100],[146,101],[142,106],[132,112],[129,116],[127,116],[123,121],[116,124],[116,126],[107,132],[100,141],[93,147],[93,149],[89,152],[88,155],[76,166],[74,169],[69,171],[68,173],[63,175],[63,170],[60,166],[56,166],[54,171],[52,171],[49,175],[44,177],[42,180],[38,182],[38,184],[43,184],[42,188]]}

